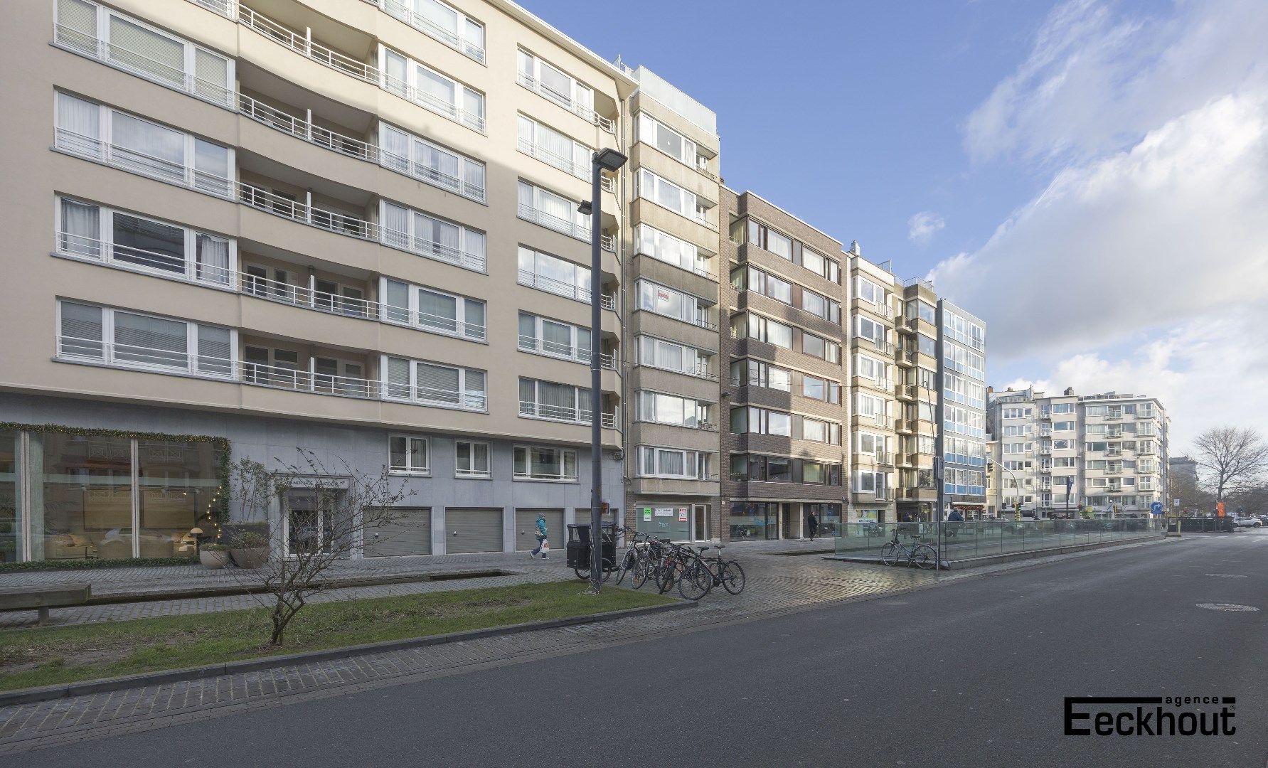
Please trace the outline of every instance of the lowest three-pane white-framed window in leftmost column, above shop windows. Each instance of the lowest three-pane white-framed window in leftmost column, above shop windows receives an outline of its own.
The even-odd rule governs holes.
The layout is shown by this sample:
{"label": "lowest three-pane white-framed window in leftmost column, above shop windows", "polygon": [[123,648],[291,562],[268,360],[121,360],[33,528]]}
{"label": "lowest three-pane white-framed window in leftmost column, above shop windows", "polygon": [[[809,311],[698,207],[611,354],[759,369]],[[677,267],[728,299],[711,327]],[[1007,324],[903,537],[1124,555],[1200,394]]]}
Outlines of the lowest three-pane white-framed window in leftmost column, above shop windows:
{"label": "lowest three-pane white-framed window in leftmost column, above shop windows", "polygon": [[58,303],[57,356],[232,378],[233,332],[75,302]]}

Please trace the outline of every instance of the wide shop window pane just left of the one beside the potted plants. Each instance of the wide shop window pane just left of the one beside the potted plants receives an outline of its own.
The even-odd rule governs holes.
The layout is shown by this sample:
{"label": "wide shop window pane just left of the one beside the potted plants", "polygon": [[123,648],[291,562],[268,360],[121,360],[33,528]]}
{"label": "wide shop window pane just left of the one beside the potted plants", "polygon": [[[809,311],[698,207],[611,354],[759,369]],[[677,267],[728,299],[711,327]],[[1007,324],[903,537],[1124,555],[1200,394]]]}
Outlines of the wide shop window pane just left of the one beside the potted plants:
{"label": "wide shop window pane just left of the one beside the potted plants", "polygon": [[131,558],[132,441],[32,432],[29,447],[32,560]]}

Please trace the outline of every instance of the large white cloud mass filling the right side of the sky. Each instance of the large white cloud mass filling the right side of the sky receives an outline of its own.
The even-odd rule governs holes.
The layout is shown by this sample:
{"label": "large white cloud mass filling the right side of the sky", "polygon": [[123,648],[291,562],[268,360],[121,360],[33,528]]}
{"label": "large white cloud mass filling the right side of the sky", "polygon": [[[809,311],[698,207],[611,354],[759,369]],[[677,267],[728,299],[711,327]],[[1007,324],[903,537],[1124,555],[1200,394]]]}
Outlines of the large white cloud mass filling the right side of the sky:
{"label": "large white cloud mass filling the right side of the sky", "polygon": [[1212,423],[1268,432],[1268,13],[1146,8],[1050,14],[965,150],[1051,181],[929,276],[988,322],[1006,387],[1159,397],[1179,449]]}

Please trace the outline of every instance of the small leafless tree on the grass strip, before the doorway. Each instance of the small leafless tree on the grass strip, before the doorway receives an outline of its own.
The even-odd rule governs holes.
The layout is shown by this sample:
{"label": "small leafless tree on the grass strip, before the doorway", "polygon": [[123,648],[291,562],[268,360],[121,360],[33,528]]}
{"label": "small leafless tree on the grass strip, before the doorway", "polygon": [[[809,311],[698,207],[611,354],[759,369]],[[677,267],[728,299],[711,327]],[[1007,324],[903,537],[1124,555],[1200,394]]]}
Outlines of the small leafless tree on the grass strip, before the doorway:
{"label": "small leafless tree on the grass strip, before the doorway", "polygon": [[322,575],[351,555],[366,532],[398,522],[401,502],[412,496],[403,483],[393,487],[385,466],[370,474],[340,460],[331,471],[312,451],[298,450],[297,464],[275,460],[278,469],[249,459],[231,468],[231,498],[246,517],[268,517],[274,501],[289,515],[288,525],[273,526],[264,565],[233,572],[257,588],[257,599],[270,608],[271,645],[283,644],[287,626],[321,592]]}

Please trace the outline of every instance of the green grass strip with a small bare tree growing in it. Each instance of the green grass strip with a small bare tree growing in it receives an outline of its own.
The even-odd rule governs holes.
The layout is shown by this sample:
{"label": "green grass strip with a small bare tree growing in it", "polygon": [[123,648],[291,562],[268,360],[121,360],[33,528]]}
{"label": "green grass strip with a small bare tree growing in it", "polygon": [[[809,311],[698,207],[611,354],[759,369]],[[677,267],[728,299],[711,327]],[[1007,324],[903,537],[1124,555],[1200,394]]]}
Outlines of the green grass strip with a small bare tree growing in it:
{"label": "green grass strip with a small bare tree growing in it", "polygon": [[671,598],[576,579],[313,603],[269,645],[265,608],[0,631],[0,691],[639,608]]}

